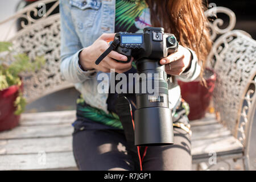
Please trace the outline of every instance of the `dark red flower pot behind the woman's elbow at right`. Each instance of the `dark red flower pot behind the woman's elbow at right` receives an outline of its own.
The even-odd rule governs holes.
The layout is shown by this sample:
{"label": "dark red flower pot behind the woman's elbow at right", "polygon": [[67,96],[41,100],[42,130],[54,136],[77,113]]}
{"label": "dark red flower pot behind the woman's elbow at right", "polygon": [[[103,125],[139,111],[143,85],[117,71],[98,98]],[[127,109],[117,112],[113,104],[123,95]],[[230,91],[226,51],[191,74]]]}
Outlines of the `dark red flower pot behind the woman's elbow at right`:
{"label": "dark red flower pot behind the woman's elbow at right", "polygon": [[189,120],[203,118],[209,107],[216,81],[216,73],[212,69],[205,69],[204,78],[207,82],[207,87],[201,85],[199,80],[192,82],[178,80],[181,97],[189,104]]}

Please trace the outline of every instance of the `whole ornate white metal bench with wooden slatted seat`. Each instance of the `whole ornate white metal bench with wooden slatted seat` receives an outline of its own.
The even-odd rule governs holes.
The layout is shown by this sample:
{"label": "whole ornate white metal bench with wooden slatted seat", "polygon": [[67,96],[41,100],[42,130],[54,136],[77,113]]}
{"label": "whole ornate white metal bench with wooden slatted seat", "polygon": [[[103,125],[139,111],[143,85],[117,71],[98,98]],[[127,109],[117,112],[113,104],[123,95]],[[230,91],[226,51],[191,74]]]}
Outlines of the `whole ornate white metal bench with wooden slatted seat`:
{"label": "whole ornate white metal bench with wooden slatted seat", "polygon": [[[35,7],[42,2],[56,3],[46,16],[32,19],[30,13],[38,13]],[[43,69],[24,75],[28,102],[73,86],[60,74],[60,16],[48,16],[58,4],[56,0],[36,2],[0,23],[2,26],[9,20],[26,17],[28,24],[6,40],[31,58],[44,55],[47,59]],[[207,114],[191,122],[193,163],[208,162],[216,155],[217,161],[243,159],[245,169],[249,169],[250,131],[256,107],[256,42],[246,32],[233,31],[236,16],[231,10],[214,7],[205,15],[215,12],[230,17],[225,29],[218,28],[220,19],[209,25],[214,44],[208,63],[217,72],[213,100],[219,117]],[[221,36],[217,38],[218,35]],[[71,123],[75,117],[75,111],[22,114],[18,127],[0,133],[0,170],[77,169],[72,153]]]}

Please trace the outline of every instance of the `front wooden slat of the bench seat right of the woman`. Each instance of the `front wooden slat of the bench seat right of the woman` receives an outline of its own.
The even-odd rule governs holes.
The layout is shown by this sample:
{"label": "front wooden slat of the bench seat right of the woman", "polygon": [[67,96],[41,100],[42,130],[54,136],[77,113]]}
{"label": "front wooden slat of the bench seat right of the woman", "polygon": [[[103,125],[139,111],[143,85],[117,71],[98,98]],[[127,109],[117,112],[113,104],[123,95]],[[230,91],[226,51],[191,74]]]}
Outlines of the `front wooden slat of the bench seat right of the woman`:
{"label": "front wooden slat of the bench seat right of the woman", "polygon": [[192,140],[192,155],[196,158],[209,158],[210,152],[217,155],[228,155],[242,152],[242,144],[233,136],[205,140]]}

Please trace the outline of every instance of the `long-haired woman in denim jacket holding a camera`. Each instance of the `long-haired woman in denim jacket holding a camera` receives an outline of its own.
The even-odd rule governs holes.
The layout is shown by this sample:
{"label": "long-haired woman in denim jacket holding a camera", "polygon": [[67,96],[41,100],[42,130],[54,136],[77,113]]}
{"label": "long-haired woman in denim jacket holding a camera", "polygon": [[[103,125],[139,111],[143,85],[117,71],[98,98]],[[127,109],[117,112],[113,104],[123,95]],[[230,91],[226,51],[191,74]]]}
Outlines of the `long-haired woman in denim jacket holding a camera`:
{"label": "long-haired woman in denim jacket holding a camera", "polygon": [[[181,100],[175,77],[192,81],[203,74],[211,43],[201,0],[61,0],[61,72],[81,92],[73,123],[73,154],[81,170],[190,170],[191,131],[188,106]],[[163,27],[180,43],[177,52],[160,60],[171,75],[170,107],[174,120],[174,144],[135,147],[123,130],[117,93],[97,92],[97,75],[110,69],[136,73],[133,61],[115,51],[99,65],[94,62],[109,47],[114,32],[142,32]],[[118,63],[115,60],[127,61]],[[134,84],[134,83],[128,83]],[[135,94],[126,94],[123,112],[136,108]],[[126,107],[127,106],[127,107]],[[125,114],[124,114],[125,115]],[[133,119],[126,113],[124,119]],[[121,119],[122,120],[122,119]]]}

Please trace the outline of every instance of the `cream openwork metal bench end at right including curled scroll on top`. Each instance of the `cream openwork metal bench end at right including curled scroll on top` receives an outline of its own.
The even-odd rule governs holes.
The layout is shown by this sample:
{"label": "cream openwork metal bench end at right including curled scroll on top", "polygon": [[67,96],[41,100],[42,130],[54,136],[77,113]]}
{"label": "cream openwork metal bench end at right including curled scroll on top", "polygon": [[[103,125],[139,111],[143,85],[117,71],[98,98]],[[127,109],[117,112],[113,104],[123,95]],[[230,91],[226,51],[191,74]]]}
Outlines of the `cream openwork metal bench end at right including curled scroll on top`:
{"label": "cream openwork metal bench end at right including curled scroll on top", "polygon": [[[255,90],[249,89],[249,85],[252,82],[255,85],[256,42],[244,31],[232,31],[236,24],[233,11],[225,7],[213,7],[205,11],[205,16],[218,13],[228,15],[229,24],[221,29],[224,21],[219,18],[209,23],[211,38],[215,41],[207,59],[207,66],[217,73],[214,107],[220,113],[221,122],[246,146],[247,113],[251,109],[255,110],[249,104],[255,100]],[[254,97],[251,97],[252,94]]]}

